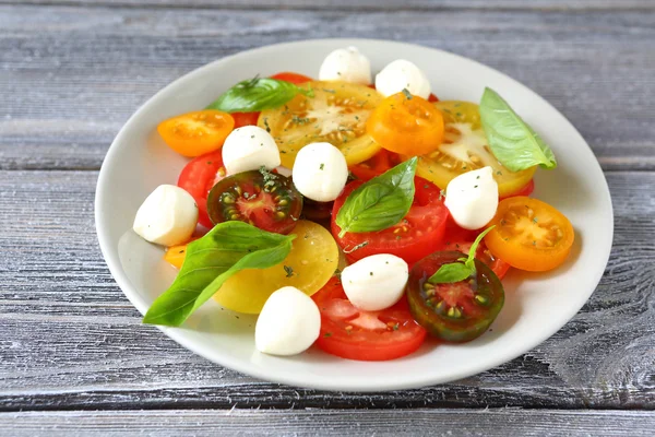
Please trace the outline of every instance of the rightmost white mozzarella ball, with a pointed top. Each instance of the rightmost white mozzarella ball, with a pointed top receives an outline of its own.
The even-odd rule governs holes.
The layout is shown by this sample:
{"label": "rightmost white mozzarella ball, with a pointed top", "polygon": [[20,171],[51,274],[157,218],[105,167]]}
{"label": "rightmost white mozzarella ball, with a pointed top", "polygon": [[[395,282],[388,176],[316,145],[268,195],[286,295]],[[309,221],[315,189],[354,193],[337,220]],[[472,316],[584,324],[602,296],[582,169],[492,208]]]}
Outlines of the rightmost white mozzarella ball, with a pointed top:
{"label": "rightmost white mozzarella ball, with a pointed top", "polygon": [[445,188],[445,206],[465,229],[485,226],[498,209],[498,184],[489,166],[460,175]]}

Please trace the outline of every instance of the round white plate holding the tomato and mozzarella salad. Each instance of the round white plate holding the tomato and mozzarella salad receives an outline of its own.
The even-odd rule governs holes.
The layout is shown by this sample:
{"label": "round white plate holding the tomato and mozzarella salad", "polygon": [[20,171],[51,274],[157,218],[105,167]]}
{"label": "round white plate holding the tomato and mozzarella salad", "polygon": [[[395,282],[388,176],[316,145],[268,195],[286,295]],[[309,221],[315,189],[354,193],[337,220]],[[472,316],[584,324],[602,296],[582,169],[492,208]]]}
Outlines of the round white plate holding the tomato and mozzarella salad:
{"label": "round white plate holding the tomato and mozzarella salad", "polygon": [[116,282],[145,314],[176,274],[162,260],[162,248],[131,232],[143,199],[160,184],[175,184],[187,162],[159,139],[157,123],[203,108],[233,84],[255,74],[296,71],[315,78],[325,55],[348,45],[359,47],[370,58],[373,71],[397,58],[415,62],[441,99],[478,102],[485,86],[498,91],[558,157],[557,169],[537,172],[534,196],[557,206],[573,223],[575,245],[568,262],[545,274],[510,273],[503,281],[505,306],[490,331],[479,339],[460,345],[428,342],[410,356],[392,362],[354,362],[313,349],[295,357],[260,354],[253,341],[255,318],[237,318],[213,302],[192,315],[183,328],[162,330],[223,366],[271,381],[327,390],[379,391],[452,381],[535,347],[580,310],[603,275],[614,229],[603,172],[575,128],[533,91],[469,59],[408,44],[322,39],[262,47],[202,67],[147,101],[111,144],[96,191],[98,239]]}

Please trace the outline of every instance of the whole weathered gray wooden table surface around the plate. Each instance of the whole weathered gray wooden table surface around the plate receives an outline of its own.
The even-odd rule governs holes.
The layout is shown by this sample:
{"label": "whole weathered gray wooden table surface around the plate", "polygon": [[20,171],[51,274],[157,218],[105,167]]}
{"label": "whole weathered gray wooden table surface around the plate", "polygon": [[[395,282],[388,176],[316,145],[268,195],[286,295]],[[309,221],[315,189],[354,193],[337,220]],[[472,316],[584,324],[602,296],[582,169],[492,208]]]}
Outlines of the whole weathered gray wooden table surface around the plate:
{"label": "whole weathered gray wooden table surface around the plate", "polygon": [[[0,0],[0,435],[655,434],[654,1],[217,3]],[[221,368],[140,323],[94,228],[114,135],[196,67],[332,36],[479,60],[592,145],[614,249],[590,302],[544,344],[454,383],[330,393]]]}

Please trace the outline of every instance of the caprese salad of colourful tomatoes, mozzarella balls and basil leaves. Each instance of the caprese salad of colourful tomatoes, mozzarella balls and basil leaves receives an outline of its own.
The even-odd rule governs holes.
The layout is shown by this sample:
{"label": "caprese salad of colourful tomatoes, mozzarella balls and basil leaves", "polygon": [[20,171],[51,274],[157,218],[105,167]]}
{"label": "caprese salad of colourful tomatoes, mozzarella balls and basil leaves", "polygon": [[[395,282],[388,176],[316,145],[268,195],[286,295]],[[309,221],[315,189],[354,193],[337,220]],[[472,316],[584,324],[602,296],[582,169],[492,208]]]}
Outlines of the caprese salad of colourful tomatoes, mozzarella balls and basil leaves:
{"label": "caprese salad of colourful tomatoes, mozzarella balls and basil leaves", "polygon": [[476,339],[509,269],[564,262],[571,223],[529,197],[556,158],[498,93],[440,102],[403,59],[373,81],[355,47],[318,75],[247,79],[159,123],[191,160],[134,220],[179,269],[144,322],[178,327],[214,298],[259,314],[262,353],[385,361]]}

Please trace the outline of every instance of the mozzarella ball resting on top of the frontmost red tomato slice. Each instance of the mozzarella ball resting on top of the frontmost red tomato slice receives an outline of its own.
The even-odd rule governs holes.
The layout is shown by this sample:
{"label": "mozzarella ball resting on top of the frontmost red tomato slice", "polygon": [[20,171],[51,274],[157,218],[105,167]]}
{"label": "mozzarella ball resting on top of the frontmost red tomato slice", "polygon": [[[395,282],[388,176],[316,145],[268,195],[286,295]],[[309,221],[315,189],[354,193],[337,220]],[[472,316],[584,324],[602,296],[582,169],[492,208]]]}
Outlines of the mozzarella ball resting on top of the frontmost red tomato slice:
{"label": "mozzarella ball resting on top of the frontmost red tomato slice", "polygon": [[409,268],[402,258],[379,253],[345,268],[342,284],[353,305],[366,311],[378,311],[401,299],[408,275]]}

